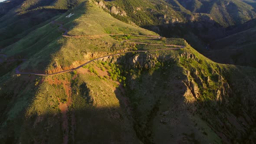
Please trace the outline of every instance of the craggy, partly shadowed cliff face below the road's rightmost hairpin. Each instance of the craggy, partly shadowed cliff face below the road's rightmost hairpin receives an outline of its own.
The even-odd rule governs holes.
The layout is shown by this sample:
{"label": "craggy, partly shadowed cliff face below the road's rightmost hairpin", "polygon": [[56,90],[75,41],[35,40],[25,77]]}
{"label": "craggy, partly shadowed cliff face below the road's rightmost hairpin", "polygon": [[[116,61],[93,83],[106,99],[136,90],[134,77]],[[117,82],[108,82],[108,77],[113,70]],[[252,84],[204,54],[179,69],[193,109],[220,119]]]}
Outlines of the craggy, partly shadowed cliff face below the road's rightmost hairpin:
{"label": "craggy, partly shadowed cliff face below the road's rightmost hairpin", "polygon": [[[254,133],[249,132],[254,128],[255,108],[248,105],[255,105],[250,85],[255,86],[256,78],[249,78],[253,80],[248,79],[243,86],[237,84],[247,70],[205,62],[190,50],[174,55],[128,54],[115,59],[126,72],[126,90],[141,141],[255,140]],[[162,139],[168,134],[172,137]]]}

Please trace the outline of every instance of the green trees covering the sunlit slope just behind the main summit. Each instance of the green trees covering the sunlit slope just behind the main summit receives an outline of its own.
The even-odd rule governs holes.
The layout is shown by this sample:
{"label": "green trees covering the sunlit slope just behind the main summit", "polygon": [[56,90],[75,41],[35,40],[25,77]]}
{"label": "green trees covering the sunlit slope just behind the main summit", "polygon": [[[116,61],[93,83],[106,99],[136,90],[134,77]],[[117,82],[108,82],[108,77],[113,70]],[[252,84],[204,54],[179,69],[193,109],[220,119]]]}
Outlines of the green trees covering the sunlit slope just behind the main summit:
{"label": "green trees covering the sunlit slope just behind the main summit", "polygon": [[[99,2],[98,0],[96,1]],[[108,1],[107,3],[105,3],[106,7],[109,10],[112,6],[115,6],[115,7],[121,8],[121,10],[124,10],[127,13],[127,16],[112,14],[113,17],[126,23],[129,23],[129,21],[132,21],[136,23],[138,26],[162,24],[163,21],[160,20],[159,17],[163,18],[166,13],[169,13],[169,16],[176,16],[176,17],[181,16],[181,15],[177,15],[176,12],[171,13],[170,9],[166,8],[166,4],[167,3],[156,4],[155,2],[152,2],[152,1],[145,2],[143,0],[114,0],[114,1]]]}

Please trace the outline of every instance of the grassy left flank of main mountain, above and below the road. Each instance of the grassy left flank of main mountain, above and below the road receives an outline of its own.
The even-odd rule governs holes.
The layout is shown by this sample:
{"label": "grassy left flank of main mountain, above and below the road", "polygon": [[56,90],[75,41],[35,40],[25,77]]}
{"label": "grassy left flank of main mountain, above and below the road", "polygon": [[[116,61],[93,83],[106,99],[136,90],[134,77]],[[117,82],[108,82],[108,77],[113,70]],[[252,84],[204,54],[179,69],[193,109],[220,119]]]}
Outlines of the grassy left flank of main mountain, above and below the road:
{"label": "grassy left flank of main mountain, above and below the road", "polygon": [[[75,13],[75,15],[66,18],[66,14],[69,13]],[[130,26],[119,20],[115,20],[108,13],[105,13],[92,3],[83,3],[79,7],[68,11],[66,14],[59,16],[58,18],[56,17],[55,20],[65,23],[64,27],[72,29],[68,33],[71,35],[99,35],[108,33],[156,35],[148,30]],[[102,17],[109,21],[105,21]],[[95,23],[99,20],[104,23]],[[113,24],[115,26],[113,26]],[[103,40],[105,41],[102,42]],[[55,70],[60,70],[55,69],[55,67],[53,67],[54,65],[52,66],[52,63],[56,62],[56,59],[61,67],[70,67],[73,62],[79,62],[79,60],[85,62],[91,59],[89,53],[98,56],[97,54],[99,52],[102,52],[102,55],[106,55],[108,53],[120,52],[128,49],[132,48],[129,48],[129,46],[125,48],[112,36],[96,37],[93,39],[65,38],[61,36],[61,31],[59,31],[58,26],[48,23],[45,26],[32,31],[12,46],[2,49],[1,53],[5,53],[8,56],[7,59],[20,57],[28,59],[28,61],[23,64],[22,68],[27,71],[44,72],[46,68],[48,68],[49,72],[53,72]],[[80,56],[77,55],[79,52],[81,52]],[[86,54],[88,57],[85,57]],[[8,67],[10,64],[12,63],[1,63],[1,67]],[[17,65],[18,64],[16,64],[16,66]],[[95,142],[95,139],[97,139],[96,137],[102,135],[98,138],[98,141],[105,139],[105,141],[109,142],[138,143],[139,140],[136,138],[135,132],[131,129],[131,121],[127,120],[123,110],[120,109],[118,99],[115,97],[114,92],[117,85],[115,82],[109,83],[108,81],[105,82],[102,79],[99,79],[98,76],[92,77],[92,75],[85,76],[83,74],[79,74],[81,75],[79,77],[77,77],[78,75],[76,74],[57,75],[56,77],[29,77],[15,75],[13,72],[14,69],[9,72],[7,71],[0,78],[1,86],[3,86],[3,88],[1,87],[1,100],[6,102],[6,104],[2,105],[3,108],[1,109],[1,140],[6,141],[7,143],[59,143],[64,141],[62,137],[67,134],[67,132],[65,132],[66,129],[63,129],[62,131],[61,118],[63,111],[60,111],[61,108],[59,105],[62,102],[65,103],[65,101],[68,103],[74,101],[72,104],[68,104],[68,111],[74,112],[72,114],[75,115],[74,121],[75,124],[77,124],[77,128],[75,128],[75,133],[68,135],[69,141]],[[54,82],[50,79],[53,79],[53,81],[58,81],[56,79],[59,79],[61,82],[52,84]],[[95,82],[95,84],[92,82]],[[81,100],[85,98],[84,96],[88,95],[85,93],[86,83],[91,83],[88,87],[93,90],[91,85],[97,84],[100,86],[98,82],[100,82],[101,87],[104,88],[104,92],[107,94],[106,96],[111,96],[112,99],[108,98],[109,102],[104,103],[104,98],[99,100],[97,100],[98,97],[95,98],[95,101],[102,103],[99,103],[100,105],[95,105],[94,103],[93,105],[89,105],[87,104],[88,101],[86,99],[82,102]],[[19,85],[21,83],[24,85]],[[62,83],[65,83],[65,85],[62,85]],[[113,91],[109,91],[110,88],[106,87],[106,84],[108,84]],[[66,85],[69,87],[72,86],[72,88],[69,90],[65,89],[67,88],[65,87]],[[17,88],[16,91],[10,92],[10,89],[14,87]],[[56,91],[56,88],[59,90]],[[83,90],[84,88],[85,90]],[[95,89],[95,91],[97,90],[98,89]],[[54,95],[54,93],[57,95]],[[93,94],[94,93],[92,93],[92,96]],[[45,97],[44,95],[47,96]],[[73,96],[71,97],[71,95],[74,95],[74,99],[72,99]],[[86,107],[86,105],[88,105],[88,107]],[[88,113],[88,115],[83,117],[81,113]],[[90,119],[88,119],[89,115],[91,115]],[[112,118],[116,118],[116,115],[119,115],[117,117],[118,119],[112,120]],[[17,118],[21,119],[21,121],[13,123]],[[70,116],[68,116],[68,118],[70,118]],[[103,120],[105,122],[102,122]],[[92,131],[93,129],[95,130],[95,133],[88,133],[87,138],[84,137],[84,134],[79,132],[85,132],[84,127],[79,126],[86,126],[86,121],[94,121],[94,123],[92,123],[93,125],[88,125],[88,129],[91,129],[89,131]],[[14,125],[10,125],[11,123]],[[70,121],[68,123],[70,124]],[[30,127],[29,125],[31,124],[35,125]],[[70,124],[70,126],[71,125],[72,124]],[[13,132],[14,128],[15,133]],[[69,129],[71,130],[71,128]],[[98,134],[99,129],[102,129],[102,134]],[[113,131],[112,136],[109,135],[111,129]],[[24,133],[24,131],[26,132]],[[47,131],[47,134],[43,134],[44,131]],[[121,133],[123,134],[120,135]],[[91,136],[89,134],[91,134]],[[31,139],[31,137],[33,137],[33,139]],[[75,137],[75,140],[71,137]],[[88,137],[95,138],[89,140]]]}

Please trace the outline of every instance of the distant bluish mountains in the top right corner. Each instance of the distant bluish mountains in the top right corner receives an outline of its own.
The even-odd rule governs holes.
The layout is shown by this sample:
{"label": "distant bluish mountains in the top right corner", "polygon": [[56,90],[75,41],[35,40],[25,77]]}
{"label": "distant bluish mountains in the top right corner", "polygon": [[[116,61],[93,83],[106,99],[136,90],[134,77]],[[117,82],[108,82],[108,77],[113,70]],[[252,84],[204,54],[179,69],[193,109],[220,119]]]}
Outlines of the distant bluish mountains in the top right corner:
{"label": "distant bluish mountains in the top right corner", "polygon": [[[256,17],[253,1],[243,0],[177,0],[193,13],[208,13],[223,26],[244,23]],[[255,1],[254,1],[255,3]]]}

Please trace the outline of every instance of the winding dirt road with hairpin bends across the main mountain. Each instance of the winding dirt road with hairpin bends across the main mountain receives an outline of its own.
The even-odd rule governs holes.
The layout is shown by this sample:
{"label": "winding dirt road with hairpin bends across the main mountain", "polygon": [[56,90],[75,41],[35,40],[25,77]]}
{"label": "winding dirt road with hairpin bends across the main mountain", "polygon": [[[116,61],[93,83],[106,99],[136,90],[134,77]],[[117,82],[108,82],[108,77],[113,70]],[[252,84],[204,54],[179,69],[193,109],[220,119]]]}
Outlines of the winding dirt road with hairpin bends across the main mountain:
{"label": "winding dirt road with hairpin bends across the main mountain", "polygon": [[[58,23],[58,22],[56,22],[56,21],[52,21],[51,23],[54,23],[54,24],[59,25],[59,29],[65,31],[65,32],[63,33],[63,35],[62,35],[62,36],[65,36],[65,37],[80,38],[80,37],[99,37],[99,36],[116,36],[116,35],[119,35],[119,36],[122,35],[122,36],[123,36],[123,35],[125,35],[125,34],[103,34],[103,35],[94,35],[94,36],[68,36],[68,35],[67,35],[68,30],[63,28],[63,24],[62,24],[62,23]],[[144,36],[144,35],[130,35],[130,36],[149,37],[150,40],[156,40],[156,39],[161,39],[161,38],[162,38],[161,36]],[[149,40],[149,39],[148,39],[148,40]],[[128,39],[128,40],[122,41],[121,43],[124,43],[124,42],[127,42],[127,41],[131,41],[131,40],[145,40],[145,39]],[[132,42],[132,43],[133,43],[133,42]],[[134,42],[134,43],[135,43],[135,42]],[[98,60],[98,59],[107,58],[107,57],[109,57],[109,56],[118,56],[118,55],[121,55],[121,54],[130,53],[130,52],[155,52],[155,51],[164,51],[164,50],[173,50],[173,49],[183,49],[183,48],[185,47],[185,46],[177,46],[177,45],[163,45],[163,44],[151,44],[151,43],[135,43],[135,44],[154,45],[154,46],[171,46],[171,47],[176,47],[176,48],[154,49],[154,50],[137,50],[137,51],[128,51],[128,52],[115,53],[115,54],[108,55],[108,56],[103,56],[103,57],[100,57],[100,58],[97,58],[97,59],[92,59],[92,60],[90,60],[89,62],[85,62],[84,64],[79,65],[78,67],[73,68],[73,69],[68,69],[68,70],[64,70],[64,71],[60,71],[60,72],[54,72],[54,73],[51,73],[51,74],[42,74],[42,73],[34,73],[34,72],[20,72],[19,69],[20,69],[20,67],[21,67],[21,65],[22,65],[22,63],[21,63],[19,66],[17,66],[17,67],[15,68],[15,73],[16,73],[16,74],[26,74],[26,75],[40,75],[40,76],[56,75],[56,74],[61,74],[61,73],[66,73],[66,72],[72,72],[72,71],[74,71],[75,69],[79,69],[79,68],[81,68],[82,66],[89,64],[90,62],[96,61],[96,60]],[[5,57],[5,59],[7,59],[7,55],[0,54],[0,56],[3,56],[3,57]],[[13,62],[13,61],[23,61],[23,62],[25,62],[26,60],[27,60],[27,59],[12,59],[12,60],[4,60],[4,61],[5,61],[5,62]],[[2,61],[3,61],[3,60],[2,60]],[[0,59],[0,62],[1,62],[1,59]]]}

